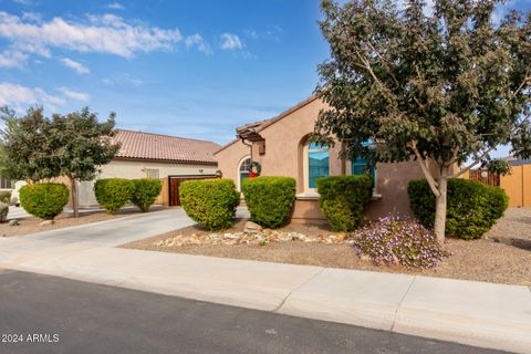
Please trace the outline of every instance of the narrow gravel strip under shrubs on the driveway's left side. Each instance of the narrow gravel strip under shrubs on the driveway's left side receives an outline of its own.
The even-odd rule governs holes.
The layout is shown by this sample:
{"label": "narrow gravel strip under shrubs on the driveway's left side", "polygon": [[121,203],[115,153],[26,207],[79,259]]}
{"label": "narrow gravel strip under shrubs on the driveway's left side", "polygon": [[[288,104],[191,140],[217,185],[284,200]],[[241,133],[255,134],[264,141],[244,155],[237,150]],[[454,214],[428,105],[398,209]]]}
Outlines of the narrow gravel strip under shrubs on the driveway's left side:
{"label": "narrow gravel strip under shrubs on the driveway's left side", "polygon": [[[152,211],[163,210],[165,207],[163,206],[154,206],[152,207]],[[83,223],[90,222],[97,222],[97,221],[105,221],[116,218],[123,218],[125,216],[139,214],[140,211],[137,208],[124,208],[119,210],[116,215],[108,215],[105,211],[85,211],[80,215],[79,218],[74,218],[72,214],[63,212],[59,215],[53,223],[45,223],[41,225],[43,221],[35,217],[28,217],[28,218],[18,218],[18,226],[11,226],[8,222],[0,223],[0,237],[13,237],[13,236],[22,236],[22,235],[30,235],[35,232],[55,230],[67,228],[71,226],[77,226]]]}

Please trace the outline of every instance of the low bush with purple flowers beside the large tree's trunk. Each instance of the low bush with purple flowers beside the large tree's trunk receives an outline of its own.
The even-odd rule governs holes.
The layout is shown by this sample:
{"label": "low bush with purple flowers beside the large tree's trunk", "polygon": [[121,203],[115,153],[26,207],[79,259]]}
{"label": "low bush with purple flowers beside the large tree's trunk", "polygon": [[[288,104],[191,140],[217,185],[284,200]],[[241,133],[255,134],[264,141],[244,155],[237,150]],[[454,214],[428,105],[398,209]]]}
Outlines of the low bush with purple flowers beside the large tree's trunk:
{"label": "low bush with purple flowers beside the large tree's trunk", "polygon": [[396,216],[381,218],[363,227],[351,244],[356,254],[367,254],[377,266],[434,268],[445,256],[433,231]]}

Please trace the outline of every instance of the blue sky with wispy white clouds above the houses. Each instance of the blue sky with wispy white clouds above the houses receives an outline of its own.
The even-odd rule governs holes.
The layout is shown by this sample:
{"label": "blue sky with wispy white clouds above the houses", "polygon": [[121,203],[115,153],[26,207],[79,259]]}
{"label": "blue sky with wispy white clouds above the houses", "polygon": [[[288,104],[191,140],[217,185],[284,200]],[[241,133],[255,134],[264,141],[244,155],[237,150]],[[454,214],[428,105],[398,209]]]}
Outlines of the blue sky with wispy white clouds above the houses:
{"label": "blue sky with wispy white clouds above the houses", "polygon": [[320,17],[317,0],[0,0],[0,105],[88,105],[123,128],[225,144],[312,93]]}

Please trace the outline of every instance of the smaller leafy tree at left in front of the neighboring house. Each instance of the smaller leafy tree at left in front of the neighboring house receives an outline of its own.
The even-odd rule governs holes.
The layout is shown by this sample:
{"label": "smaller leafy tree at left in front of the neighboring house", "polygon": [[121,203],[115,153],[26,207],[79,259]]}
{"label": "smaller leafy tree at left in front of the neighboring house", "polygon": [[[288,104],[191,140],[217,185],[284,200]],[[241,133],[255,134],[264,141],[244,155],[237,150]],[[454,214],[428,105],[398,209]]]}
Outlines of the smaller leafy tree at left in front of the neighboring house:
{"label": "smaller leafy tree at left in front of the neighboring house", "polygon": [[116,155],[115,114],[100,123],[87,107],[46,118],[42,107],[22,117],[3,107],[2,168],[7,177],[39,181],[64,176],[70,180],[74,216],[79,216],[77,181],[91,180]]}

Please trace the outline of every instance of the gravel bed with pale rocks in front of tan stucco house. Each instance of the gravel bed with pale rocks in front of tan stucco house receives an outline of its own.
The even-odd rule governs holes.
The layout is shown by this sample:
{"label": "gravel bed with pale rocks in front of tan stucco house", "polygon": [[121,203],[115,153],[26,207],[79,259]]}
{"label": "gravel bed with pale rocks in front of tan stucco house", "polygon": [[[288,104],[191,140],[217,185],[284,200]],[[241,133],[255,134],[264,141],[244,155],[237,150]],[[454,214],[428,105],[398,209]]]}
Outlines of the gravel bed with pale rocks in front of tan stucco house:
{"label": "gravel bed with pale rocks in front of tan stucco house", "polygon": [[124,247],[531,285],[531,208],[508,209],[482,239],[448,239],[445,249],[450,256],[437,268],[427,270],[375,266],[355,254],[347,235],[334,233],[323,226],[289,225],[264,230],[262,236],[250,236],[242,232],[244,223],[246,220],[238,220],[221,232],[188,227]]}

